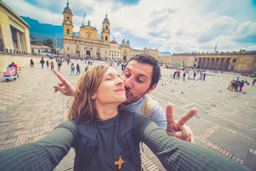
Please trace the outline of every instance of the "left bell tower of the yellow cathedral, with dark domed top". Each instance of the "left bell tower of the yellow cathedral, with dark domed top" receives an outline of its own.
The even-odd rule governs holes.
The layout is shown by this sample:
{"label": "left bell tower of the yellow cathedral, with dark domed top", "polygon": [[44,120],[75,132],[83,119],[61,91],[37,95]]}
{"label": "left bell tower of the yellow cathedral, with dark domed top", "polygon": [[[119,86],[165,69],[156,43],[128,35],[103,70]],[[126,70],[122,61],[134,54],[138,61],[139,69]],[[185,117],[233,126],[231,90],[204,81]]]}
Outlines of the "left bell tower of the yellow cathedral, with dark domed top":
{"label": "left bell tower of the yellow cathedral, with dark domed top", "polygon": [[72,23],[72,11],[69,8],[68,1],[66,3],[66,8],[63,11],[63,36],[73,36],[73,23]]}

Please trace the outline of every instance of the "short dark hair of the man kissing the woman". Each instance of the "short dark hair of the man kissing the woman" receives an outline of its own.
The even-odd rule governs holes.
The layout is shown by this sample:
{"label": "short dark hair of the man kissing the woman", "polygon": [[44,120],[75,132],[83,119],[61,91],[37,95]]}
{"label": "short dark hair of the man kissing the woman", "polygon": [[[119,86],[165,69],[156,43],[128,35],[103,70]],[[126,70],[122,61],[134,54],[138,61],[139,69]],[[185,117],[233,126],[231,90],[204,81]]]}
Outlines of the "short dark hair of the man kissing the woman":
{"label": "short dark hair of the man kissing the woman", "polygon": [[[149,88],[152,88],[152,86],[155,83],[156,84],[158,83],[161,73],[160,73],[160,66],[158,65],[158,61],[155,59],[155,57],[150,56],[146,53],[140,53],[130,58],[130,61],[133,61],[133,60],[138,61],[140,63],[148,63],[150,66],[153,66],[152,79],[151,79]],[[128,63],[130,61],[128,61]],[[126,64],[126,66],[128,65],[128,63]]]}

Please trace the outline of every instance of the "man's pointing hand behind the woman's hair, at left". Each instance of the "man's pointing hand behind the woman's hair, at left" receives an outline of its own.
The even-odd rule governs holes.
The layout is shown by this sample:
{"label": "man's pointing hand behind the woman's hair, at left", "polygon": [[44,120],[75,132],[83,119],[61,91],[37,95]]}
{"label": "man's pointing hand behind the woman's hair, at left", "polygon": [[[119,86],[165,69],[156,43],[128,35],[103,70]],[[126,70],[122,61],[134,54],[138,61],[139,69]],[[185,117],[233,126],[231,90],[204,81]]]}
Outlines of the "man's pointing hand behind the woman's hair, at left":
{"label": "man's pointing hand behind the woman's hair, at left", "polygon": [[[71,83],[65,80],[57,71],[53,70],[53,73],[58,77],[61,81],[57,84],[57,86],[53,86],[55,88],[54,92],[60,91],[63,95],[72,96],[76,92],[76,88],[74,88]],[[62,88],[64,87],[64,88]]]}

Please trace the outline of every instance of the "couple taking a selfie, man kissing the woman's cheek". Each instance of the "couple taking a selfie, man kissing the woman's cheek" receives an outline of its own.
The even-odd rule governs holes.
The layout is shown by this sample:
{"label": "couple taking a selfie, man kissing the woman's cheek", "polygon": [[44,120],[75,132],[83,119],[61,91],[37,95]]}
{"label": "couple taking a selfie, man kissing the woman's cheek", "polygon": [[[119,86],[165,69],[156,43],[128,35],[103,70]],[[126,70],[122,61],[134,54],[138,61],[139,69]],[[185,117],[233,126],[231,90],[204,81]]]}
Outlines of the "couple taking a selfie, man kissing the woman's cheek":
{"label": "couple taking a selfie, man kissing the woman's cheek", "polygon": [[93,65],[76,83],[60,79],[55,91],[69,95],[68,120],[32,143],[0,151],[0,170],[53,170],[75,148],[74,170],[141,170],[143,142],[166,170],[247,170],[229,157],[193,143],[185,123],[192,108],[177,121],[173,106],[166,113],[148,94],[160,79],[153,56],[138,54],[120,75],[110,65]]}

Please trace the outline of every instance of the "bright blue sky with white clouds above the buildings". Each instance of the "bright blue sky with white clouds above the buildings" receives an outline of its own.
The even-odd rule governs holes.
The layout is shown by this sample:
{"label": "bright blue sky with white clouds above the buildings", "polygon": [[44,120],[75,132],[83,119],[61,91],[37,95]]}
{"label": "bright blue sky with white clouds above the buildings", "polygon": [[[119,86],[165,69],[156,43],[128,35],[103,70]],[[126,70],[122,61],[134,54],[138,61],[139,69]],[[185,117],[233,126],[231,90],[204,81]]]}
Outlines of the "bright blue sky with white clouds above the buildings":
{"label": "bright blue sky with white clouds above the buildings", "polygon": [[[66,0],[3,0],[20,16],[62,25]],[[69,0],[74,31],[86,13],[101,33],[106,14],[111,39],[160,52],[256,50],[256,0]]]}

